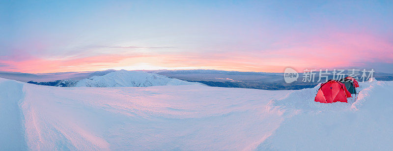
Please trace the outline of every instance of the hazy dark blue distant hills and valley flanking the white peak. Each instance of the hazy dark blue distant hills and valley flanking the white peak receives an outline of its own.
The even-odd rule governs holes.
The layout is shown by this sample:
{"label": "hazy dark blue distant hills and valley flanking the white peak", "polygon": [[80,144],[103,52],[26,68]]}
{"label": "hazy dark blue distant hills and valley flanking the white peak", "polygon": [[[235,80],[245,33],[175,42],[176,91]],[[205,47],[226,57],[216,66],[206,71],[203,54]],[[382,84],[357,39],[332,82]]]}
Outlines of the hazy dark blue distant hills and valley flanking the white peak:
{"label": "hazy dark blue distant hills and valley flanking the white peak", "polygon": [[[88,79],[92,76],[103,76],[105,74],[115,72],[109,69],[105,71],[85,71],[85,72],[63,72],[63,73],[41,73],[29,74],[19,72],[1,72],[0,77],[5,79],[28,82],[37,85],[67,87],[74,85],[76,81]],[[305,88],[313,88],[318,83],[298,82],[291,84],[285,83],[283,73],[264,73],[264,72],[239,72],[239,71],[221,71],[221,70],[141,70],[147,73],[156,73],[171,78],[198,82],[212,87],[227,88],[251,88],[262,90],[300,90]],[[316,72],[315,79],[319,74]],[[299,73],[299,77],[304,77]],[[333,79],[333,74],[328,76]],[[373,77],[378,81],[392,81],[393,74],[375,72]],[[62,83],[64,80],[65,83]]]}

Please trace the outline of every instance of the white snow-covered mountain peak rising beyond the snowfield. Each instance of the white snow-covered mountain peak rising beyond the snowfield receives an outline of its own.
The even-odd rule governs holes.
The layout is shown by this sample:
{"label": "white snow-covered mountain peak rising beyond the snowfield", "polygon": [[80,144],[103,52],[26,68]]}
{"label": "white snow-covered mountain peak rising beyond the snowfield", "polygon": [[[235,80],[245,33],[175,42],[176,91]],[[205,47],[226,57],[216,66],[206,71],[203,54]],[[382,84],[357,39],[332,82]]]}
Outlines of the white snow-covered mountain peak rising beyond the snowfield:
{"label": "white snow-covered mountain peak rising beyond the snowfield", "polygon": [[197,84],[155,73],[127,70],[112,71],[102,76],[92,76],[79,81],[68,80],[63,83],[68,87],[150,87]]}

